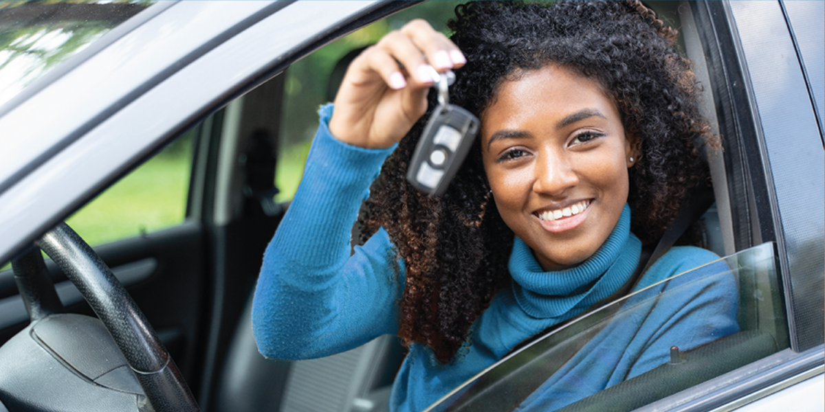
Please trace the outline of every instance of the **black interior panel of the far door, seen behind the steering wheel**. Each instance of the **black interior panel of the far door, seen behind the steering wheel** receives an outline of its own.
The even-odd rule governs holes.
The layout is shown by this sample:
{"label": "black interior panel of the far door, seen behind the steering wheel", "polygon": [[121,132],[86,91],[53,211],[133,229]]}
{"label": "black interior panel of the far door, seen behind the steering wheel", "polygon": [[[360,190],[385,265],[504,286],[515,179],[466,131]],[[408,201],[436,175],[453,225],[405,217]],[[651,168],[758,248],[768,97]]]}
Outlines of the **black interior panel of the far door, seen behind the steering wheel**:
{"label": "black interior panel of the far door, seen behind the steering wheel", "polygon": [[[95,250],[125,284],[188,381],[195,372],[196,337],[206,288],[202,225],[187,221]],[[47,267],[66,311],[93,316],[57,265],[49,260]],[[28,323],[13,278],[11,270],[0,273],[2,342]]]}

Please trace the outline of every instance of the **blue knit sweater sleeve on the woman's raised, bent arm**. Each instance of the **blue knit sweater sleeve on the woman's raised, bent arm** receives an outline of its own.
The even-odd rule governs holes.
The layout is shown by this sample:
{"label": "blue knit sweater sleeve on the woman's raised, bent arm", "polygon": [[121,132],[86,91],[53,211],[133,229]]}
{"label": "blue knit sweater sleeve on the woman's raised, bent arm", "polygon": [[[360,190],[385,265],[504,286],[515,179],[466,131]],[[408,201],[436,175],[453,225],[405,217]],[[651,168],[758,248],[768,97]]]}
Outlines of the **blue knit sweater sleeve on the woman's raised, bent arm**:
{"label": "blue knit sweater sleeve on the woman's raised, bent arm", "polygon": [[321,122],[298,191],[264,254],[252,302],[258,349],[269,358],[318,358],[395,333],[403,265],[383,228],[350,255],[361,201],[394,147],[365,149]]}

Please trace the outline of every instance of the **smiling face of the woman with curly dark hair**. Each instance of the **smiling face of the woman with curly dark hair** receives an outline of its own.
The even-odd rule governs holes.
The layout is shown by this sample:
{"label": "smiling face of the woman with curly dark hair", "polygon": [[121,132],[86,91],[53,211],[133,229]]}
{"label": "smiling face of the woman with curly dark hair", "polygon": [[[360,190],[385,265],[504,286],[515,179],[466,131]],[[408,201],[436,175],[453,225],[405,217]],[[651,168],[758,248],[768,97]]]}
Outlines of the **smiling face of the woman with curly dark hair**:
{"label": "smiling face of the woman with curly dark hair", "polygon": [[543,269],[596,253],[619,222],[629,157],[638,157],[598,83],[554,65],[503,82],[481,139],[498,211]]}

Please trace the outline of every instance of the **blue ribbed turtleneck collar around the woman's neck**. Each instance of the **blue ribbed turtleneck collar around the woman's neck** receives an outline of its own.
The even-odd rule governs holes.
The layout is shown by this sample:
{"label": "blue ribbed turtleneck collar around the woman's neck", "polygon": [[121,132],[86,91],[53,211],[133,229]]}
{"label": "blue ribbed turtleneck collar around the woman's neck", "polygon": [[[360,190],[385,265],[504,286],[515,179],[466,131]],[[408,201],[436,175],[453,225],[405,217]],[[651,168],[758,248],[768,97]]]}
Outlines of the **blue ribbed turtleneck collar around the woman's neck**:
{"label": "blue ribbed turtleneck collar around the woman's neck", "polygon": [[516,302],[535,318],[565,321],[625,284],[639,264],[641,250],[642,242],[630,233],[627,204],[596,254],[573,268],[542,271],[530,247],[516,237],[508,265]]}

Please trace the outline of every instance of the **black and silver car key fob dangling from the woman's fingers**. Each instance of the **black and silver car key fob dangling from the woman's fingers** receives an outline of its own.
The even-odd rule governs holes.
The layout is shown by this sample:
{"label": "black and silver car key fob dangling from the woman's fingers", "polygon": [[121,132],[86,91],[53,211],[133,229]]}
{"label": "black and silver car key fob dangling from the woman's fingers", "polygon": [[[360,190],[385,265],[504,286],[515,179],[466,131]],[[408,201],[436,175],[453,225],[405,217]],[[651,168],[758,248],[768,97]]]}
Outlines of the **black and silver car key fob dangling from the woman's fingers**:
{"label": "black and silver car key fob dangling from the woman's fingers", "polygon": [[462,107],[450,105],[448,87],[455,81],[455,74],[437,73],[435,69],[433,72],[438,79],[438,105],[418,140],[407,180],[424,193],[441,195],[473,146],[479,133],[479,118]]}

